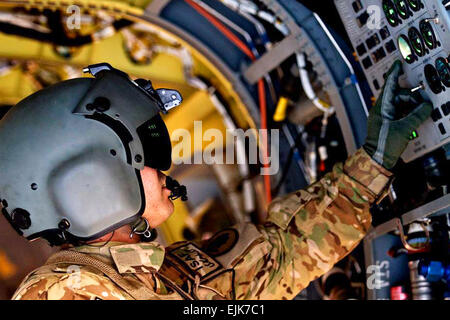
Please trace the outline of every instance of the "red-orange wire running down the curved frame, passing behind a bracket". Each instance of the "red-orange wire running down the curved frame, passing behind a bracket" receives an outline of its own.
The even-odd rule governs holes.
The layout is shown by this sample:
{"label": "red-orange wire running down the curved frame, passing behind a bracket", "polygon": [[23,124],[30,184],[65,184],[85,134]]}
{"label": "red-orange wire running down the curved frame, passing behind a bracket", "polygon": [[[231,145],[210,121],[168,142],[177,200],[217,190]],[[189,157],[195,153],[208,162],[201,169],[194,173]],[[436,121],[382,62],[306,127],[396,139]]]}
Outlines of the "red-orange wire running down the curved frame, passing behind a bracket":
{"label": "red-orange wire running down the curved frame, passing behind a bracket", "polygon": [[[211,22],[220,32],[222,32],[231,42],[233,42],[236,47],[238,47],[245,55],[247,55],[252,61],[256,58],[253,52],[243,43],[234,33],[232,33],[228,28],[223,25],[219,20],[217,20],[213,15],[211,15],[208,11],[203,9],[201,6],[193,2],[192,0],[185,0],[194,10],[204,16],[209,22]],[[258,81],[258,98],[259,98],[259,112],[261,116],[261,129],[267,130],[267,106],[266,106],[266,93],[264,88],[264,81],[260,79]],[[263,166],[264,168],[268,168],[268,153],[267,153],[267,134],[263,134]],[[272,201],[272,193],[271,193],[271,185],[270,185],[270,176],[264,175],[264,185],[266,189],[266,198],[267,202],[270,203]]]}

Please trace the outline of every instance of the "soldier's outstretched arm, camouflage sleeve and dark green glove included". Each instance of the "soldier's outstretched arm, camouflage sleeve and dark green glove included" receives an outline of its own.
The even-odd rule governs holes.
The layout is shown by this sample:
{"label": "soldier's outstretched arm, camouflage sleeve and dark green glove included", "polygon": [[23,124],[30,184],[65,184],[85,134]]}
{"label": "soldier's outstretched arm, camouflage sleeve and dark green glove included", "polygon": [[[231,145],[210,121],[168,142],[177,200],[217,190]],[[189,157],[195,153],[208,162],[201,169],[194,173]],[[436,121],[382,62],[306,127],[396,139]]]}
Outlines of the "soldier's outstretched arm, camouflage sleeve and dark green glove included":
{"label": "soldier's outstretched arm, camouflage sleeve and dark green glove included", "polygon": [[[388,188],[390,171],[411,132],[432,110],[430,103],[399,87],[401,68],[397,61],[388,73],[370,111],[363,148],[306,190],[270,205],[267,224],[253,230],[253,242],[233,261],[237,299],[292,299],[364,237],[371,204]],[[398,101],[416,108],[399,118]]]}

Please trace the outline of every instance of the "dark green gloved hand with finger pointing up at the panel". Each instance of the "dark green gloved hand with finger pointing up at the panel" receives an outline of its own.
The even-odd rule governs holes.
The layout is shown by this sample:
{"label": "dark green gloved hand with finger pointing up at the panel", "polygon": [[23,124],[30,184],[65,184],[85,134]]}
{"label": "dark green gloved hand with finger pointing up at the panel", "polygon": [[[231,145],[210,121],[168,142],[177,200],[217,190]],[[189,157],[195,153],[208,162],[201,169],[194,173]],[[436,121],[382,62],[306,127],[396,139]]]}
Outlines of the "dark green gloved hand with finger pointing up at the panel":
{"label": "dark green gloved hand with finger pointing up at the panel", "polygon": [[[421,101],[420,95],[410,90],[400,88],[398,78],[402,71],[402,63],[395,61],[388,72],[383,90],[370,110],[368,120],[368,134],[363,145],[364,150],[384,168],[390,170],[408,146],[411,133],[417,129],[430,115],[433,106],[428,101]],[[421,101],[421,102],[419,102]],[[400,105],[403,106],[400,106]],[[401,110],[408,105],[416,108],[405,114]]]}

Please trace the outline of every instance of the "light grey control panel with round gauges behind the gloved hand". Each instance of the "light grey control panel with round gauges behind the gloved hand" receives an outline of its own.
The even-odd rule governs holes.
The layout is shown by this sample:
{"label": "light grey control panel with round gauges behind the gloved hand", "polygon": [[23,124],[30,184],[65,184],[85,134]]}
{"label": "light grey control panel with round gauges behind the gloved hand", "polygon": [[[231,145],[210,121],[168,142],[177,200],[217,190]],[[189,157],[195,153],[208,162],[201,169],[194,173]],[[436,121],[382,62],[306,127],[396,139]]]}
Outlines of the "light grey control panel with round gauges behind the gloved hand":
{"label": "light grey control panel with round gauges behind the gloved hand", "polygon": [[400,84],[420,91],[434,110],[402,155],[410,162],[450,142],[450,1],[335,0],[374,96],[396,59]]}

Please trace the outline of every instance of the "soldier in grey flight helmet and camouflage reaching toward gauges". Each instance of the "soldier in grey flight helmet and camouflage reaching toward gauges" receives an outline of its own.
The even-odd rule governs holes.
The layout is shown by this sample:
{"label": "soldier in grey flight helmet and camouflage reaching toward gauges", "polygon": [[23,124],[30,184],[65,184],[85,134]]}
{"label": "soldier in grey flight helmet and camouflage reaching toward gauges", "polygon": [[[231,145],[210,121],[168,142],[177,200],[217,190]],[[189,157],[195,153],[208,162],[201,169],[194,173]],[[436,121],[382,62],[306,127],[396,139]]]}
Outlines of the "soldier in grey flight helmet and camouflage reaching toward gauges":
{"label": "soldier in grey flight helmet and camouflage reaching toward gauges", "polygon": [[[176,91],[107,64],[95,79],[37,92],[0,122],[0,199],[28,239],[64,249],[31,272],[13,299],[292,299],[350,253],[371,225],[410,132],[430,115],[401,89],[391,68],[369,115],[363,148],[320,181],[275,199],[264,225],[223,230],[167,248],[152,228],[185,189],[161,171],[171,164],[159,116]],[[395,118],[397,100],[416,105]]]}

